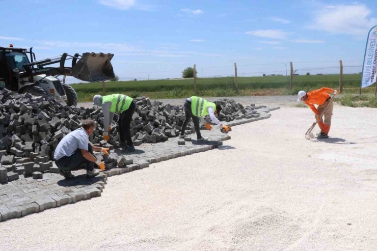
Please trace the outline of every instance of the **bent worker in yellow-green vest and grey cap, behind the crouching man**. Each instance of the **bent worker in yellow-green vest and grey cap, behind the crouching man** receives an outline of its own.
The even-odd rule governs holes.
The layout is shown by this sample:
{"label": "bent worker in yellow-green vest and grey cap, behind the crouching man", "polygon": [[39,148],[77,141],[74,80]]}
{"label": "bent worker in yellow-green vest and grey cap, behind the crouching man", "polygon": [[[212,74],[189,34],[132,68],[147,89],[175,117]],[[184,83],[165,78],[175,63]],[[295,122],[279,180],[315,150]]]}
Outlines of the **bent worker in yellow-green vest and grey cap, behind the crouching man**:
{"label": "bent worker in yellow-green vest and grey cap, behind the crouching man", "polygon": [[127,144],[127,152],[134,152],[135,147],[132,143],[130,124],[132,121],[132,115],[135,112],[136,103],[131,97],[123,94],[112,95],[95,95],[93,97],[94,105],[102,107],[103,113],[103,140],[108,141],[111,131],[111,122],[114,118],[114,113],[119,113],[118,125],[120,134],[120,144],[125,146]]}

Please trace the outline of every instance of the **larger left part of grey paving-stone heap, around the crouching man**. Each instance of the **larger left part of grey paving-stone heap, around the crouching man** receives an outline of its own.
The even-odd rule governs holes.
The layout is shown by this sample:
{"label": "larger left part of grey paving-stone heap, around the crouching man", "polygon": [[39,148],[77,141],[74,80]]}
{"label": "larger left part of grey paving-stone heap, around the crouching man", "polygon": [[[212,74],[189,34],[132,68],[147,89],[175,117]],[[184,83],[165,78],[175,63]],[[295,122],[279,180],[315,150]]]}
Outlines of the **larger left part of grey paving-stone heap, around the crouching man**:
{"label": "larger left part of grey paving-stone heap, around the crouching man", "polygon": [[[54,150],[65,135],[88,118],[97,124],[90,141],[112,148],[101,136],[101,109],[69,107],[52,94],[33,96],[1,90],[0,182],[10,182],[19,175],[41,178],[44,172],[58,173],[52,164]],[[119,138],[117,126],[117,123],[112,124],[112,142]]]}

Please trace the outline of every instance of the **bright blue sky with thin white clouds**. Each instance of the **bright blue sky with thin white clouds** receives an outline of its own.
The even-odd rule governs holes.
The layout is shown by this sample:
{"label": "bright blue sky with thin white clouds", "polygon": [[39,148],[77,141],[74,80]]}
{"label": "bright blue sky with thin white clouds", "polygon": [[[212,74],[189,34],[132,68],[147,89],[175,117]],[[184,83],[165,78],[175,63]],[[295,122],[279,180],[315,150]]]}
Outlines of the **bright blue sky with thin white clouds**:
{"label": "bright blue sky with thin white clouds", "polygon": [[[114,53],[121,79],[336,73],[362,65],[375,1],[3,0],[0,43],[34,47],[37,60]],[[359,62],[358,62],[359,61]],[[306,63],[317,62],[317,63]],[[264,65],[269,64],[269,65]],[[275,72],[274,72],[275,71]],[[345,73],[361,71],[346,67]],[[271,72],[271,73],[270,73]]]}

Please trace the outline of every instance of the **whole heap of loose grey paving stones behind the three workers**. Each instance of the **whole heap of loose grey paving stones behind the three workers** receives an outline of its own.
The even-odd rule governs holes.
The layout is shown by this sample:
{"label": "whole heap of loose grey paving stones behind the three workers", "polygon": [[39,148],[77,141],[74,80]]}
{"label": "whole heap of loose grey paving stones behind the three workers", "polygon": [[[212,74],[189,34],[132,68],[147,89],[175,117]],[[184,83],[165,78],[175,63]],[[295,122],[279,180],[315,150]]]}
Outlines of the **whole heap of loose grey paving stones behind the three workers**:
{"label": "whole heap of loose grey paving stones behind the three workers", "polygon": [[[134,145],[157,143],[179,135],[185,120],[183,105],[163,104],[138,97],[136,110],[131,121],[131,136]],[[259,116],[253,104],[243,106],[234,100],[219,100],[223,110],[221,121],[232,121]],[[53,152],[62,138],[80,127],[85,119],[93,119],[96,129],[90,135],[95,146],[113,149],[119,146],[118,115],[114,114],[111,137],[104,141],[103,114],[100,107],[67,106],[57,101],[52,94],[33,96],[18,94],[7,89],[0,91],[0,183],[18,179],[19,175],[39,179],[44,172],[58,173],[53,166]],[[209,118],[205,118],[210,121]],[[204,127],[205,128],[205,127]],[[195,132],[193,122],[186,127],[186,133]],[[125,156],[115,153],[110,156],[96,154],[105,161],[106,169],[131,164]]]}

